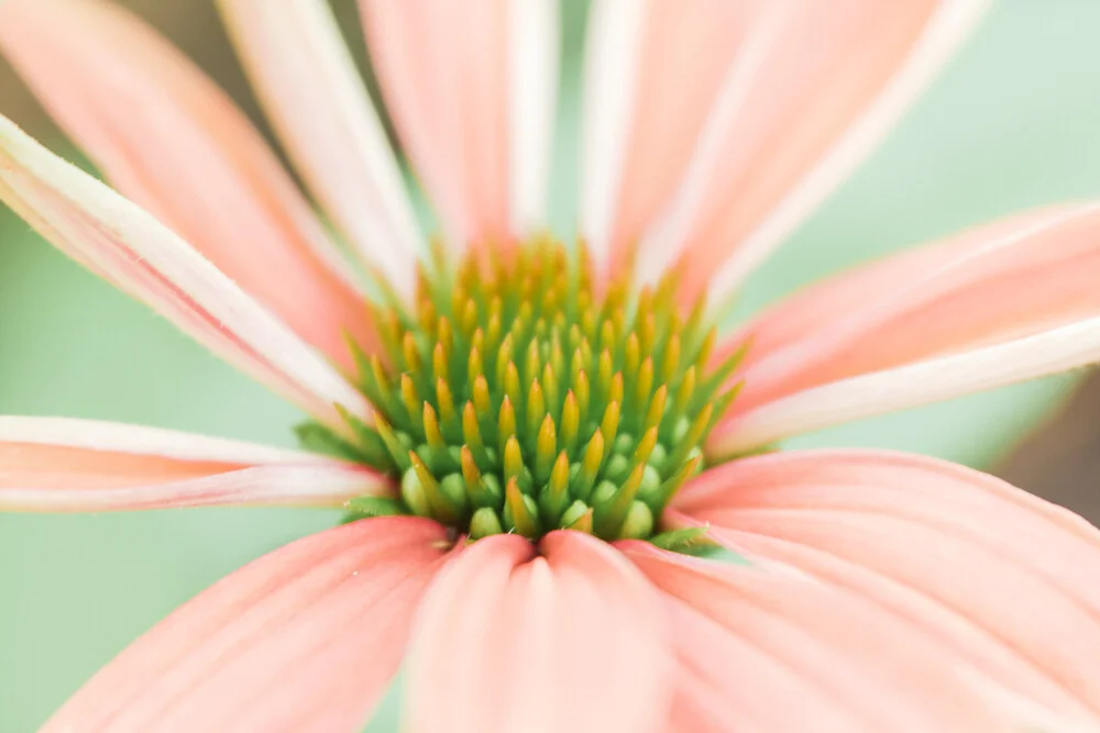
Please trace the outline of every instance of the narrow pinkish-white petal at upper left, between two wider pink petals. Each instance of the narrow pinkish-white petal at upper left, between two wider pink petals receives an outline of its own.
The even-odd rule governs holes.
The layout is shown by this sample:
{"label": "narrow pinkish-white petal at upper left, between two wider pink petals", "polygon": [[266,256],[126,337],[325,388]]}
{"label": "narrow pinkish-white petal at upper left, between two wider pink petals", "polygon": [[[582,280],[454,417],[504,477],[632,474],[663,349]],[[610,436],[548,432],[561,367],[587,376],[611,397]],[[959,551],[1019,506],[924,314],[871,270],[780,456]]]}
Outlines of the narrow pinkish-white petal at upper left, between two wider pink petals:
{"label": "narrow pinkish-white petal at upper left, between two wider pink petals", "polygon": [[320,0],[220,0],[219,7],[296,168],[354,252],[411,298],[419,230],[332,11]]}

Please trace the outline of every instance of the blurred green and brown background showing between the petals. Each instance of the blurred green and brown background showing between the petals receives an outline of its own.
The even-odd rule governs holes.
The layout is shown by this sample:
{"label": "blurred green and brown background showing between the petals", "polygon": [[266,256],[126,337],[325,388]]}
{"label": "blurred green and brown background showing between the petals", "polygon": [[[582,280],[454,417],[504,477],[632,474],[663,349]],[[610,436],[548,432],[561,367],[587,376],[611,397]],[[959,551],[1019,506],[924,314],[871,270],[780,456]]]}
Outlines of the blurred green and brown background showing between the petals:
{"label": "blurred green and brown background showing between the petals", "polygon": [[[2,0],[0,0],[2,1]],[[266,132],[210,0],[128,0]],[[370,77],[353,0],[333,0]],[[585,3],[564,2],[554,223],[575,210]],[[1100,193],[1100,3],[1001,0],[887,143],[746,289],[739,315],[844,266],[1037,204]],[[0,59],[0,112],[80,160]],[[1100,520],[1100,381],[1087,374],[865,421],[791,445],[917,451]],[[292,443],[295,410],[54,252],[0,208],[0,413]],[[0,467],[2,470],[2,467]],[[0,515],[0,731],[30,731],[197,591],[334,513]],[[392,730],[395,696],[371,730]]]}

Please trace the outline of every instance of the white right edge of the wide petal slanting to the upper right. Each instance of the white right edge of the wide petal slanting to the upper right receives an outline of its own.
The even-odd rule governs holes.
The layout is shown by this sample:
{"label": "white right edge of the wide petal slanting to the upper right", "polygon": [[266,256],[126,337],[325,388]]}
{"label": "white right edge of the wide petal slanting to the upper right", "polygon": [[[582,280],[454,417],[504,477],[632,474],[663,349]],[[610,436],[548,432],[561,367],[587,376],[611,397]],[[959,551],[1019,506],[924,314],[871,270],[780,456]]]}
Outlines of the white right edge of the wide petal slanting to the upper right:
{"label": "white right edge of the wide petal slanting to the upper right", "polygon": [[[890,84],[711,280],[721,307],[745,278],[866,159],[978,24],[991,0],[943,0]],[[686,188],[688,184],[685,184]]]}

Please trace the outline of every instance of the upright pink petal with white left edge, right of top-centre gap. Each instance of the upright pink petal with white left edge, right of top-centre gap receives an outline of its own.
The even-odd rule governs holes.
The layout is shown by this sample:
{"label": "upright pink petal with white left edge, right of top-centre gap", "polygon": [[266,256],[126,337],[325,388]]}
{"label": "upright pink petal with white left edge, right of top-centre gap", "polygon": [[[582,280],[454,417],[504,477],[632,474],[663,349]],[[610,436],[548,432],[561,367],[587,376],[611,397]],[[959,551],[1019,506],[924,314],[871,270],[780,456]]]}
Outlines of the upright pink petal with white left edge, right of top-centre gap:
{"label": "upright pink petal with white left edge, right of top-centre gap", "polygon": [[622,259],[672,196],[757,4],[593,3],[581,186],[584,233],[601,259]]}

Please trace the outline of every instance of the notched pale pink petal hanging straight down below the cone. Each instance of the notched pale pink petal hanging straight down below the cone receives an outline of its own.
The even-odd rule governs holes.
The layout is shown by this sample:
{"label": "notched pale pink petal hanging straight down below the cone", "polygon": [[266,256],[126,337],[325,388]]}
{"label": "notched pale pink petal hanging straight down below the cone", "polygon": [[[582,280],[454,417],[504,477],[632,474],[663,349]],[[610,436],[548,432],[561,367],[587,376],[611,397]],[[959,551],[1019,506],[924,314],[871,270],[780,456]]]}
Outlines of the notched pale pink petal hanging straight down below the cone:
{"label": "notched pale pink petal hanging straight down below the cone", "polygon": [[479,540],[425,599],[413,733],[663,731],[670,662],[658,597],[609,545],[554,532]]}

